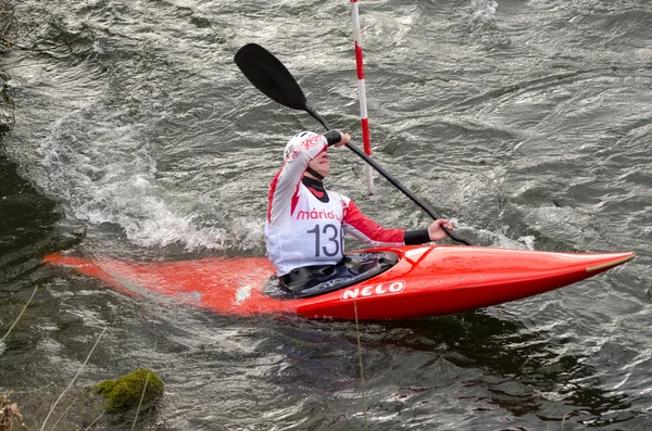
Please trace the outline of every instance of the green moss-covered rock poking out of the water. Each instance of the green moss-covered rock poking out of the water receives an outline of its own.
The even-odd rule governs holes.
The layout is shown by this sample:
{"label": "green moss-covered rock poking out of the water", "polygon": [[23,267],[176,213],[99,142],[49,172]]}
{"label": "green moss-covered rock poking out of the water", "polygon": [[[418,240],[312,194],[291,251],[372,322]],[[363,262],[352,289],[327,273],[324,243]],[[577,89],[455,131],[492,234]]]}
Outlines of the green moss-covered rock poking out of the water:
{"label": "green moss-covered rock poking out of the water", "polygon": [[148,369],[137,369],[117,379],[101,381],[95,390],[106,398],[106,411],[125,413],[138,407],[146,382],[147,390],[142,398],[142,405],[146,406],[163,396],[163,381]]}

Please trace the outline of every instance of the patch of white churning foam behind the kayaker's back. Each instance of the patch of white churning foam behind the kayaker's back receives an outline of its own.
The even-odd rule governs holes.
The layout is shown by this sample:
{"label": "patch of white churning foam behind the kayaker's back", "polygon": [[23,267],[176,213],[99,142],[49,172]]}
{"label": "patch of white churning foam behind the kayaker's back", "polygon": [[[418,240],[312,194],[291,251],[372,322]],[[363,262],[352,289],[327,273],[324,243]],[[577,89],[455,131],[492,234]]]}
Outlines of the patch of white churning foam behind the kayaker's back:
{"label": "patch of white churning foam behind the kayaker's back", "polygon": [[43,188],[62,198],[75,218],[118,225],[136,245],[225,250],[262,243],[264,214],[201,226],[202,215],[220,217],[220,202],[198,204],[200,192],[162,185],[146,136],[145,125],[125,124],[124,115],[109,115],[103,106],[71,112],[41,142],[49,174]]}

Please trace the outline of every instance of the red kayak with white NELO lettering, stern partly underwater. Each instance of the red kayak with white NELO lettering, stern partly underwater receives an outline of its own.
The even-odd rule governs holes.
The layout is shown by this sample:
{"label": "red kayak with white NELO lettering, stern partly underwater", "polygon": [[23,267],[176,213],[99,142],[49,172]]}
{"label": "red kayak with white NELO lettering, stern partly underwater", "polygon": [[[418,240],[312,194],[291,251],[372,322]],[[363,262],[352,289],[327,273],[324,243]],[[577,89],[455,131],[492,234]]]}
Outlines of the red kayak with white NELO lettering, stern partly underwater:
{"label": "red kayak with white NELO lettering, stern partly underwater", "polygon": [[301,299],[266,294],[264,257],[127,263],[52,254],[45,262],[99,278],[129,294],[148,292],[221,314],[289,313],[311,318],[411,319],[467,312],[543,293],[624,264],[635,253],[552,253],[457,245],[366,250],[396,265],[365,281]]}

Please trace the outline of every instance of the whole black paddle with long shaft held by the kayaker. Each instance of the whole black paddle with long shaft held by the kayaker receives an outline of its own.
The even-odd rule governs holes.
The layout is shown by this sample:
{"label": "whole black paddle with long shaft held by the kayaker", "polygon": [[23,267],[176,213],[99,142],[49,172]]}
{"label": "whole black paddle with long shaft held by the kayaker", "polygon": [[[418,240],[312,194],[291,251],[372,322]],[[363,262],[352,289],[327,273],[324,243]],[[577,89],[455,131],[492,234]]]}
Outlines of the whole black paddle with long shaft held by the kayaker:
{"label": "whole black paddle with long shaft held by the kayaker", "polygon": [[[297,84],[294,77],[269,51],[260,45],[248,43],[238,50],[235,61],[251,84],[268,98],[293,110],[308,112],[319,122],[326,130],[330,130],[326,119],[310,107],[308,100],[305,100],[305,96],[303,96],[303,91],[301,90],[301,87],[299,87],[299,84]],[[412,194],[384,168],[378,166],[373,159],[351,144],[347,144],[347,148],[368,163],[378,174],[384,176],[393,187],[410,198],[412,202],[425,211],[432,219],[440,218],[428,205]],[[441,229],[443,229],[446,234],[453,241],[472,245],[471,241],[457,236],[443,226],[441,226]]]}

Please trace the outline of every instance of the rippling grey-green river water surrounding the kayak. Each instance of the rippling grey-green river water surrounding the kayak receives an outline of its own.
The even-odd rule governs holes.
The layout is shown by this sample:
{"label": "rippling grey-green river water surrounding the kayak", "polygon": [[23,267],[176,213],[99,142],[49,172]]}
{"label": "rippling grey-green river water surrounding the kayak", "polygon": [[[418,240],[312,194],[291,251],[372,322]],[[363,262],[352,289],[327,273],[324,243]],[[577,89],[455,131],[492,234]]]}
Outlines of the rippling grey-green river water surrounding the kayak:
{"label": "rippling grey-green river water surrounding the kayak", "polygon": [[[138,367],[166,384],[138,429],[652,429],[648,0],[360,2],[380,165],[475,243],[638,254],[475,313],[361,322],[364,397],[353,322],[220,316],[40,264],[70,248],[264,255],[283,147],[318,124],[258,92],[234,54],[274,52],[360,142],[350,3],[3,4],[0,335],[34,297],[0,342],[0,391],[33,429],[77,372]],[[383,178],[367,195],[353,153],[331,163],[327,186],[379,223],[428,223]],[[57,429],[84,409],[59,408]]]}

